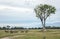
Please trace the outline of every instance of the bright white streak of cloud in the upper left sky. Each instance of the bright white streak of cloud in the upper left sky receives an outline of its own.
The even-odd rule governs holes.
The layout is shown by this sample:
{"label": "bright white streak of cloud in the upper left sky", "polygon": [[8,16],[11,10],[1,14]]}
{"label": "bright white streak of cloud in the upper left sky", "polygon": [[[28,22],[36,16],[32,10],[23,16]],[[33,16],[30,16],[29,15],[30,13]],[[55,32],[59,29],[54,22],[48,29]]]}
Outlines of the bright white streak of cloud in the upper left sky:
{"label": "bright white streak of cloud in the upper left sky", "polygon": [[26,11],[32,11],[30,8],[24,8],[24,7],[12,7],[12,6],[6,6],[6,5],[0,5],[0,10],[14,10],[14,11],[20,11],[20,12],[26,12]]}

